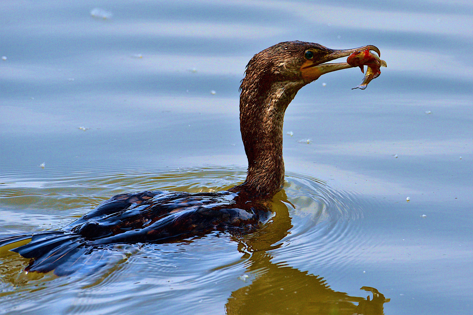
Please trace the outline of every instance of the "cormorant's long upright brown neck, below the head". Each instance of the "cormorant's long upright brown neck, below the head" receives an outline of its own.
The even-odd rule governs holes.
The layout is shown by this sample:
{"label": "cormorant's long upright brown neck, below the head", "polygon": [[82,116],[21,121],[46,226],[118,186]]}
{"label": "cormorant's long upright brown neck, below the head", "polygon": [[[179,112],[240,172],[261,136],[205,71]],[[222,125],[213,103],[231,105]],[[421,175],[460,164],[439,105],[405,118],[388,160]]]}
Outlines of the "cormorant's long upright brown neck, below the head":
{"label": "cormorant's long upright brown neck, below the head", "polygon": [[248,175],[243,184],[230,191],[269,198],[284,185],[284,112],[305,83],[302,80],[276,81],[264,85],[260,81],[259,85],[248,85],[245,84],[247,77],[240,94],[240,130],[248,158]]}

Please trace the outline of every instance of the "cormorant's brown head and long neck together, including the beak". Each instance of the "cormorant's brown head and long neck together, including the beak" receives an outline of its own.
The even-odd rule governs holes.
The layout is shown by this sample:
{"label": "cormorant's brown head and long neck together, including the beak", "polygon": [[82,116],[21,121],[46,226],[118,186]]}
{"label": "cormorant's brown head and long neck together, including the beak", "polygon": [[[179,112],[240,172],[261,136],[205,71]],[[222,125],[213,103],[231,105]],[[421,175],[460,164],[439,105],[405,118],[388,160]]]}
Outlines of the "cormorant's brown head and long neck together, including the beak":
{"label": "cormorant's brown head and long neck together, including the beak", "polygon": [[254,55],[240,86],[240,130],[248,175],[243,184],[229,191],[268,199],[282,188],[282,123],[289,103],[301,87],[323,74],[352,68],[346,62],[326,62],[366,49],[380,54],[371,45],[332,50],[317,43],[294,41],[278,43]]}

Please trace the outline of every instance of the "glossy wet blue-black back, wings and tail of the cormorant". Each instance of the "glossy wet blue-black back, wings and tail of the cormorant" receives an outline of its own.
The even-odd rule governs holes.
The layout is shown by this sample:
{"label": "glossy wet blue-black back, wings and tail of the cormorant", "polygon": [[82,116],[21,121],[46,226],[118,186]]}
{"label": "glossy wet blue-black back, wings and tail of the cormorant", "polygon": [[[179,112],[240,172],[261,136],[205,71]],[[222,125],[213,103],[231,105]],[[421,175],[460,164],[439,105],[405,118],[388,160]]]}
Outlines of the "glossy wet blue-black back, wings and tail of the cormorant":
{"label": "glossy wet blue-black back, wings and tail of the cormorant", "polygon": [[[0,239],[0,247],[31,242],[11,249],[31,258],[26,271],[66,275],[81,268],[95,269],[96,248],[108,244],[158,242],[204,235],[212,230],[247,229],[259,224],[268,207],[238,202],[238,193],[145,191],[112,197],[92,212],[59,231]],[[258,210],[259,209],[259,210]],[[24,244],[24,243],[23,243]],[[92,260],[89,264],[86,262]]]}

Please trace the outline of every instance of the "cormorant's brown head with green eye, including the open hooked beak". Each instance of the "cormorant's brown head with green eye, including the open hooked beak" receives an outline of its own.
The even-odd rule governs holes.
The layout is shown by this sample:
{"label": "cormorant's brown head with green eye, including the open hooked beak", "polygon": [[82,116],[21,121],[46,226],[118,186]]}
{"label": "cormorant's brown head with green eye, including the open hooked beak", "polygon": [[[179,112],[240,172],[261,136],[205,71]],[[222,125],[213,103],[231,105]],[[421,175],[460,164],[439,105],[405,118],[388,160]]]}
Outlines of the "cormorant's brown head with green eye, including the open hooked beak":
{"label": "cormorant's brown head with green eye, including the open hooked beak", "polygon": [[346,62],[326,62],[366,49],[380,55],[379,49],[371,45],[333,50],[317,43],[282,42],[255,54],[246,66],[246,77],[260,80],[260,83],[292,81],[306,85],[325,73],[352,68]]}

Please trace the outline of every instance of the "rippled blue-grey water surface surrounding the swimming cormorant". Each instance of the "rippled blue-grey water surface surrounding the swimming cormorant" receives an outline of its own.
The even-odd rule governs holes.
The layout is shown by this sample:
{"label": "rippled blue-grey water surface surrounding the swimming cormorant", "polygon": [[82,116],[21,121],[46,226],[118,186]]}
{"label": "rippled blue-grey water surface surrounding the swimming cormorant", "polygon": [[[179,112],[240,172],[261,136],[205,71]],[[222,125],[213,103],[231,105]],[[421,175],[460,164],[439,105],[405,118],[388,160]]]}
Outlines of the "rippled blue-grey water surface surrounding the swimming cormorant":
{"label": "rippled blue-grey water surface surrounding the swimming cormorant", "polygon": [[258,232],[107,248],[59,278],[6,253],[2,313],[352,314],[373,299],[362,287],[390,299],[378,313],[472,313],[469,1],[0,6],[0,237],[124,192],[243,181],[239,81],[274,43],[374,44],[388,65],[364,91],[347,69],[298,92]]}

